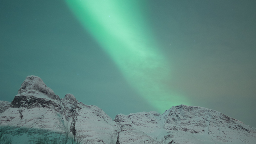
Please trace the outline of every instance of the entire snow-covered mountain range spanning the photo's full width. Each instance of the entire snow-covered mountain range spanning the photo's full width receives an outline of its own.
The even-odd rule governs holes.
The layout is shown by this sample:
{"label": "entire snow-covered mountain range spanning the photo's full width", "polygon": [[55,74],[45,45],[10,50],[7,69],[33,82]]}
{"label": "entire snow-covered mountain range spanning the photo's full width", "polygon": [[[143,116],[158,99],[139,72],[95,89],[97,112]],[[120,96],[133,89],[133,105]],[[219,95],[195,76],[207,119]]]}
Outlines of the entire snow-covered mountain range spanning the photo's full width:
{"label": "entire snow-covered mountain range spanning the photo's full width", "polygon": [[0,140],[13,144],[256,144],[256,130],[215,110],[173,106],[164,114],[118,114],[63,99],[27,76],[10,102],[0,101]]}

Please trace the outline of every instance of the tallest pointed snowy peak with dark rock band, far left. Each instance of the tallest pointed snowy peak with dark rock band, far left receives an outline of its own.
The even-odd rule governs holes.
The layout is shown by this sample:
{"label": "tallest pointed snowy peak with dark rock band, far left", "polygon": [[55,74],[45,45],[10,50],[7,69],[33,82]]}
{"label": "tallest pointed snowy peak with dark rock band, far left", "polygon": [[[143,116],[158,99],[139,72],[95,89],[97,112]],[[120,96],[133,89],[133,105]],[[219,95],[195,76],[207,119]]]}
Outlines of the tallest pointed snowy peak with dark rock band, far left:
{"label": "tallest pointed snowy peak with dark rock band, far left", "polygon": [[14,100],[0,111],[1,131],[12,134],[14,143],[28,144],[41,134],[65,140],[60,98],[37,76],[27,76]]}

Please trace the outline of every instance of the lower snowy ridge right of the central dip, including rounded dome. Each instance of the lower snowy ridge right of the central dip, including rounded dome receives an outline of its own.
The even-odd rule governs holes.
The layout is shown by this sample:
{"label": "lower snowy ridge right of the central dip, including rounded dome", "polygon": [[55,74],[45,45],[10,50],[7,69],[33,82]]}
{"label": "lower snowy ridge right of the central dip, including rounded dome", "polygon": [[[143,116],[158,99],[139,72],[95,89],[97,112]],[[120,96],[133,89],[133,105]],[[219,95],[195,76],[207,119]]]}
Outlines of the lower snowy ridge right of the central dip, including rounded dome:
{"label": "lower snowy ridge right of the central dip, including rounded dome", "polygon": [[256,130],[215,110],[173,106],[164,114],[119,114],[120,144],[256,144]]}

